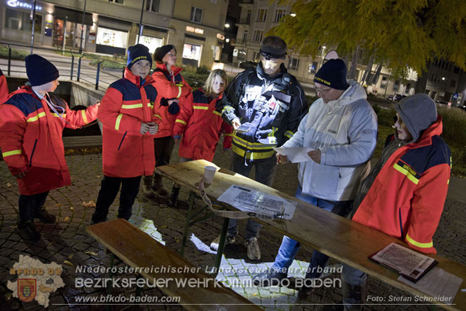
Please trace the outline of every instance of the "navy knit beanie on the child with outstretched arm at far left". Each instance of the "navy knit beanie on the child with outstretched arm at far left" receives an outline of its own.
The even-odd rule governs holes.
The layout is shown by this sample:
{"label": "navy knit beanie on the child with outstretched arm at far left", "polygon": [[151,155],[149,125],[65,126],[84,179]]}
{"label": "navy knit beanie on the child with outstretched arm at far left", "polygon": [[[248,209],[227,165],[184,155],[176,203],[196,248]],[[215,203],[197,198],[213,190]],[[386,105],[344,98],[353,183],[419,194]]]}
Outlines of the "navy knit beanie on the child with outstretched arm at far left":
{"label": "navy knit beanie on the child with outstretched arm at far left", "polygon": [[26,74],[31,86],[43,85],[55,81],[60,76],[57,67],[39,55],[27,55],[25,61]]}

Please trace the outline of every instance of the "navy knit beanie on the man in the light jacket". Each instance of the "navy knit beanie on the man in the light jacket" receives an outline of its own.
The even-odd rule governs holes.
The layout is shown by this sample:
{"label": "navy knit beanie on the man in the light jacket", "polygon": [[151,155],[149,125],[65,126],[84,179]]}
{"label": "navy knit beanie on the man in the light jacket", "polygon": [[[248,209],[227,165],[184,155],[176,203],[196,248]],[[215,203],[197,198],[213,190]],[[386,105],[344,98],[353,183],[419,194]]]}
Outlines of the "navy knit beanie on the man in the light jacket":
{"label": "navy knit beanie on the man in the light jacket", "polygon": [[346,90],[348,83],[346,82],[345,62],[340,58],[328,60],[315,74],[314,82],[327,85],[329,88],[336,90]]}

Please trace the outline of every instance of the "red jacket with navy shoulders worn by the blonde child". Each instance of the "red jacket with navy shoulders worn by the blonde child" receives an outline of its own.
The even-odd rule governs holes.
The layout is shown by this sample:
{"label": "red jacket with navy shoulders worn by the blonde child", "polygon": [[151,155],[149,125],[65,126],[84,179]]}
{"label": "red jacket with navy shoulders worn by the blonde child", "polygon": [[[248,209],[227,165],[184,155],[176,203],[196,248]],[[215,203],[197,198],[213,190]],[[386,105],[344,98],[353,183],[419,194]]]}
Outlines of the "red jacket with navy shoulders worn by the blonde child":
{"label": "red jacket with navy shoulders worn by the blonde child", "polygon": [[179,144],[180,157],[212,162],[222,133],[224,148],[231,148],[232,127],[215,110],[215,104],[220,99],[205,97],[203,90],[196,90],[189,95],[174,123],[174,135],[184,134]]}

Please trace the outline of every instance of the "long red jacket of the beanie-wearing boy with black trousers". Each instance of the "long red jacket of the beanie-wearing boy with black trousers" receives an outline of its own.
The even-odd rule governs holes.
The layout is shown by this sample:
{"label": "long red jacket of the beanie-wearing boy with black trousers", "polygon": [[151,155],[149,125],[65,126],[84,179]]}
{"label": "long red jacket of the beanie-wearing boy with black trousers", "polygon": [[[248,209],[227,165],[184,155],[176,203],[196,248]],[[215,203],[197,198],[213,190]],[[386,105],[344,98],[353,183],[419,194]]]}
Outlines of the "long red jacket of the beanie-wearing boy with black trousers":
{"label": "long red jacket of the beanie-wearing boy with black trousers", "polygon": [[153,136],[140,133],[142,123],[160,123],[153,111],[157,90],[151,76],[141,78],[125,69],[125,78],[109,85],[99,109],[102,122],[102,163],[109,177],[151,175],[156,165]]}

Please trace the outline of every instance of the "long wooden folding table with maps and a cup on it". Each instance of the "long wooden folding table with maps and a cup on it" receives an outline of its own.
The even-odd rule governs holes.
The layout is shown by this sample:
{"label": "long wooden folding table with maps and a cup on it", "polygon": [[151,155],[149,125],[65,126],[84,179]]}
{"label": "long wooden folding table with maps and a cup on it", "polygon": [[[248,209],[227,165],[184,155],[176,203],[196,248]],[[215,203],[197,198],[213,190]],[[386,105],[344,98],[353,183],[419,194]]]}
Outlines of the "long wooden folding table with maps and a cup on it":
{"label": "long wooden folding table with maps and a cup on it", "polygon": [[[189,210],[186,219],[187,226],[185,228],[185,236],[183,240],[184,244],[186,244],[188,225],[193,224],[191,216],[193,212],[194,195],[196,193],[200,193],[198,183],[204,176],[205,165],[217,166],[206,160],[194,160],[186,163],[165,165],[156,168],[156,172],[158,174],[162,174],[181,186],[186,186],[191,191]],[[271,221],[254,219],[255,221],[273,228],[277,233],[287,235],[303,245],[335,258],[336,260],[341,261],[341,263],[346,263],[354,268],[362,270],[368,275],[371,275],[371,277],[375,277],[376,279],[395,286],[398,289],[407,291],[414,296],[429,296],[418,289],[414,289],[408,284],[400,282],[397,280],[399,277],[397,272],[374,263],[368,258],[392,242],[404,244],[404,246],[407,247],[407,244],[402,240],[385,235],[385,233],[381,233],[378,230],[366,227],[360,223],[356,223],[355,221],[350,221],[344,217],[332,214],[324,209],[310,205],[309,203],[302,202],[290,195],[287,195],[286,193],[278,191],[277,189],[270,188],[224,168],[217,170],[212,184],[205,186],[205,192],[211,200],[217,200],[217,198],[219,198],[219,196],[233,184],[245,186],[246,188],[298,202],[298,206],[296,207],[291,220],[280,219],[280,221]],[[224,205],[224,203],[222,203],[222,205]],[[228,208],[234,209],[233,207]],[[205,214],[205,216],[201,218],[208,219],[212,218],[212,216]],[[224,226],[222,228],[223,239],[220,240],[217,259],[219,257],[221,258],[221,254],[223,254],[224,238],[227,227],[228,219],[225,219]],[[184,245],[182,246],[182,250],[184,250]],[[439,255],[429,256],[438,261],[438,268],[461,277],[462,284],[460,289],[466,289],[466,265],[455,263],[454,261],[448,260],[447,258]],[[217,265],[215,268],[217,268],[218,271],[219,267]],[[466,310],[466,292],[459,290],[451,305],[441,305],[441,307],[448,310]]]}

